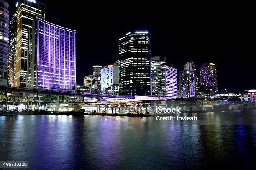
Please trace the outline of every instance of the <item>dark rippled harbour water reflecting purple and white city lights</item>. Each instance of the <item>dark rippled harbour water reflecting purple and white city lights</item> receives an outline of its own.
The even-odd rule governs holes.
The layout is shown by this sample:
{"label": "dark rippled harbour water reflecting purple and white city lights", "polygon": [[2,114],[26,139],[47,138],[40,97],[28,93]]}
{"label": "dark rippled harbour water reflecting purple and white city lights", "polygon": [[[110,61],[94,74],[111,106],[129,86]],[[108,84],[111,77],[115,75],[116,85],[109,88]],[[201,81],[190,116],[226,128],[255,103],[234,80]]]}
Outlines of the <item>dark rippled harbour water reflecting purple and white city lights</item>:
{"label": "dark rippled harbour water reflecting purple and white city lights", "polygon": [[223,114],[246,117],[204,113],[209,125],[191,125],[155,117],[0,116],[0,161],[29,161],[31,170],[255,169],[256,125],[229,125]]}

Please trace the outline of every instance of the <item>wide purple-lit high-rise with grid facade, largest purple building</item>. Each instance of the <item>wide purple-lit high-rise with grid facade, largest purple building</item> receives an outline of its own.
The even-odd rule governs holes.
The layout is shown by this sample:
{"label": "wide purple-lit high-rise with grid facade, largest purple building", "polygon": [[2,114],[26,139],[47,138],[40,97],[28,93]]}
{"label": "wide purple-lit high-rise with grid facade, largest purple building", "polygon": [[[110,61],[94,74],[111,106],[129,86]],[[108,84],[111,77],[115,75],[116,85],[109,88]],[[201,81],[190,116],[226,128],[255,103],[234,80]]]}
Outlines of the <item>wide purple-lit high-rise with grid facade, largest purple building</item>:
{"label": "wide purple-lit high-rise with grid facade, largest purple building", "polygon": [[76,31],[37,18],[32,27],[32,88],[74,92]]}

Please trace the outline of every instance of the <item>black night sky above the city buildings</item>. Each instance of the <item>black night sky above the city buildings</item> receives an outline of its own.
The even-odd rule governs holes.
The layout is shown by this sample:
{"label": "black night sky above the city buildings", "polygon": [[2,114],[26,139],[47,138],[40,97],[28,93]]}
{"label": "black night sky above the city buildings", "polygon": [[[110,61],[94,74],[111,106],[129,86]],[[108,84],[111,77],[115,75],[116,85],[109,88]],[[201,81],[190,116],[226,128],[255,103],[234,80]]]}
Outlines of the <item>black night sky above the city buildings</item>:
{"label": "black night sky above the city buildings", "polygon": [[[17,1],[7,2],[11,16]],[[93,65],[118,59],[118,37],[146,30],[151,32],[151,56],[166,57],[178,72],[187,61],[194,61],[197,70],[201,63],[212,62],[217,65],[220,92],[256,88],[253,22],[241,11],[138,2],[40,2],[46,3],[47,21],[57,24],[60,18],[61,26],[77,30],[77,85],[92,74]]]}

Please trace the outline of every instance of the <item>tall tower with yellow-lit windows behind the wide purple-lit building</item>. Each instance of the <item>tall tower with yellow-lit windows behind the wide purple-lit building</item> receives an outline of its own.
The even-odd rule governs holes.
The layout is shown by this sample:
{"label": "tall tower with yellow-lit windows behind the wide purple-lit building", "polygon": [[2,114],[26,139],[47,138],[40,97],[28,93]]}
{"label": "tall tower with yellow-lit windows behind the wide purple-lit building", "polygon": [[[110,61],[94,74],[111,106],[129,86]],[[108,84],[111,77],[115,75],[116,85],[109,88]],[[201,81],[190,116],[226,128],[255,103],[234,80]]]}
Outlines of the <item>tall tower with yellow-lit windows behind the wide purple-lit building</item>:
{"label": "tall tower with yellow-lit windows behind the wide purple-lit building", "polygon": [[[28,63],[28,30],[36,18],[45,19],[46,5],[36,0],[18,0],[17,2],[17,56],[16,56],[16,75],[15,87],[27,86],[27,71],[31,68]],[[31,75],[28,75],[30,78]],[[33,77],[33,73],[32,73]],[[30,79],[29,79],[30,80]]]}

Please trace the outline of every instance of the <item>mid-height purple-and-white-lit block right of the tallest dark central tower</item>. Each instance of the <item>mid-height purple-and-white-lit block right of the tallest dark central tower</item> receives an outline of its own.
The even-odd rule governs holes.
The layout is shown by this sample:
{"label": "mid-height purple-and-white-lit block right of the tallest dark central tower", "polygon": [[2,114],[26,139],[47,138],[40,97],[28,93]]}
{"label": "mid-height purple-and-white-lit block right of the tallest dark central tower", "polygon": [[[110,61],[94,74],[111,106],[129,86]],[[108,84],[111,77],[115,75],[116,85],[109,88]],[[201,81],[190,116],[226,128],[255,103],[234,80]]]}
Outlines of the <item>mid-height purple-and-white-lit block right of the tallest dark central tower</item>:
{"label": "mid-height purple-and-white-lit block right of the tallest dark central tower", "polygon": [[171,64],[161,64],[157,68],[158,97],[174,99],[178,96],[177,69]]}

